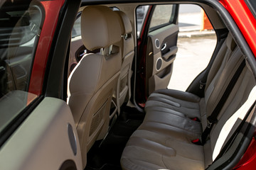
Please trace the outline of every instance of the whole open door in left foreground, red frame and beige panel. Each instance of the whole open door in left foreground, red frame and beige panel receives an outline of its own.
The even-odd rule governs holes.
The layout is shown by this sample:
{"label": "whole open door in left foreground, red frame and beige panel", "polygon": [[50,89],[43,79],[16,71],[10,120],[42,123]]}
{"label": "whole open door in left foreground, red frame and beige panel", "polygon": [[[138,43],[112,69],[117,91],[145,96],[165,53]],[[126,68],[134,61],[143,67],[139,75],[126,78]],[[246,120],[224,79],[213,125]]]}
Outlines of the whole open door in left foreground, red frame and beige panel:
{"label": "whole open door in left foreground, red frame and beige panel", "polygon": [[[63,97],[53,94],[60,94],[58,79],[63,79],[54,63],[63,67],[70,40],[60,35],[70,33],[67,25],[80,2],[72,5],[65,0],[0,3],[0,169],[82,169],[73,115]],[[57,63],[51,62],[55,56]]]}

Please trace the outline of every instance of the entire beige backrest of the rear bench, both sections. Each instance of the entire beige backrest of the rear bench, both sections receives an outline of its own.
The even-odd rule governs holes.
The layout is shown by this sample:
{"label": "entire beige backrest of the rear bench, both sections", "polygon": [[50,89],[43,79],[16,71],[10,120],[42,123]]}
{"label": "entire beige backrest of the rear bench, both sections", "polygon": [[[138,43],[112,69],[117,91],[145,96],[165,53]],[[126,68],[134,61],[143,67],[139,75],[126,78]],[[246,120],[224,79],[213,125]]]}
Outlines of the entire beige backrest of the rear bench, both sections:
{"label": "entire beige backrest of the rear bench, both sections", "polygon": [[[223,61],[220,62],[220,67],[218,72],[215,73],[213,81],[210,82],[208,89],[206,89],[206,111],[205,115],[201,118],[203,130],[206,129],[207,117],[213,112],[220,101],[220,98],[223,96],[225,89],[233,78],[233,75],[238,70],[238,67],[240,67],[242,61],[245,60],[244,55],[242,55],[240,48],[235,44],[231,35],[229,35],[226,40],[226,46],[228,47],[226,55],[223,58]],[[221,147],[223,147],[225,142],[230,138],[230,135],[228,134],[232,134],[233,131],[230,132],[228,128],[232,128],[233,125],[227,123],[228,121],[230,122],[230,118],[232,118],[234,114],[238,113],[240,107],[244,106],[245,101],[247,101],[255,84],[255,77],[253,76],[250,67],[246,64],[238,81],[236,81],[235,86],[221,108],[220,113],[218,113],[218,122],[213,125],[213,128],[210,131],[210,140],[204,145],[206,165],[213,162],[220,152]],[[251,106],[251,104],[247,106]],[[242,112],[246,113],[246,111]],[[239,121],[240,120],[238,120],[238,123]],[[225,128],[223,128],[224,125]],[[226,131],[225,133],[227,136],[220,136],[220,132],[223,132],[223,130]]]}

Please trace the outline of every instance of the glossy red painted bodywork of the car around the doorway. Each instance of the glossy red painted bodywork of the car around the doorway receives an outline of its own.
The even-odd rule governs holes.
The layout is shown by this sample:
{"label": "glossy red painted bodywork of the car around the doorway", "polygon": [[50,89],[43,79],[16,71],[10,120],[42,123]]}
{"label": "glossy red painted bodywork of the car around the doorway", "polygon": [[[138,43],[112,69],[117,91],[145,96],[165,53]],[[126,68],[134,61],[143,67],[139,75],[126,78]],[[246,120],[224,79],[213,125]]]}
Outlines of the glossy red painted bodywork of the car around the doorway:
{"label": "glossy red painted bodywork of the car around the doorway", "polygon": [[[251,52],[256,57],[256,19],[252,11],[250,11],[250,8],[248,8],[244,0],[219,0],[219,3],[230,13],[230,16],[232,16],[249,45]],[[54,36],[58,33],[58,24],[60,24],[58,22],[61,22],[59,13],[65,4],[65,0],[42,1],[41,4],[43,4],[46,15],[36,48],[36,55],[31,71],[31,81],[28,89],[28,92],[36,94],[37,96],[43,94],[43,81],[48,76],[46,68],[49,61],[50,50],[54,48],[53,45],[55,45]],[[142,28],[142,34],[143,31],[144,29]],[[139,45],[140,43],[138,43],[138,47]],[[252,138],[250,146],[234,169],[255,169],[255,167],[256,140]]]}

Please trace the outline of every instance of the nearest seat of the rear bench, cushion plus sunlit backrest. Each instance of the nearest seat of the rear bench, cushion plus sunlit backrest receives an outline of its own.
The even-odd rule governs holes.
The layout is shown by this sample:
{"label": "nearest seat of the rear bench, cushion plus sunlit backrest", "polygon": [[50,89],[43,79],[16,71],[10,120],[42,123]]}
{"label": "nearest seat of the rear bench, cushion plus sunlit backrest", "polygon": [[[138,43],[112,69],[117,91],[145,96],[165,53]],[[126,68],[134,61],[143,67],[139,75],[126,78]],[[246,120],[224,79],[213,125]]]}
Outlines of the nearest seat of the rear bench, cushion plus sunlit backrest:
{"label": "nearest seat of the rear bench, cushion plus sunlit backrest", "polygon": [[[250,69],[245,68],[228,98],[228,103],[220,112],[218,123],[211,130],[210,140],[203,146],[191,142],[191,140],[201,137],[201,134],[195,132],[193,128],[183,130],[180,126],[183,123],[177,127],[176,125],[149,120],[149,117],[145,118],[124,148],[121,158],[122,169],[206,169],[213,163],[220,152],[220,148],[235,131],[235,129],[231,130],[233,125],[229,124],[230,120],[233,119],[232,117],[237,113],[238,115],[247,113],[254,103],[256,94],[253,86],[255,86],[255,78]],[[169,117],[168,113],[165,115],[159,113],[161,112],[156,112],[155,115],[163,119]],[[240,120],[235,120],[237,121],[234,125],[238,127]],[[192,124],[199,123],[193,121]],[[224,126],[225,128],[223,128]],[[225,137],[222,137],[220,134],[226,129],[228,132],[226,132]]]}

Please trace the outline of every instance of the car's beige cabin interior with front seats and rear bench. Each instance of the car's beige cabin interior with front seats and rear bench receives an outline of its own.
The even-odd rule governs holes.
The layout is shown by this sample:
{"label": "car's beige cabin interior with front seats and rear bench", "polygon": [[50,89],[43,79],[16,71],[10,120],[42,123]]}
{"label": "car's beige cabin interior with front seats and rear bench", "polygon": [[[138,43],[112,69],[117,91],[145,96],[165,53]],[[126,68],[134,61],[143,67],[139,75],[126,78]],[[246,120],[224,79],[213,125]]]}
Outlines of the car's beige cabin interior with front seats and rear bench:
{"label": "car's beige cabin interior with front seats and rear bench", "polygon": [[[134,11],[142,5],[82,6],[78,12],[81,35],[71,39],[68,105],[82,164],[214,169],[254,110],[254,74],[218,12],[197,3],[215,30],[215,51],[186,91],[166,89],[178,51],[178,5],[149,4],[138,35],[141,16]],[[150,11],[159,6],[172,9],[171,20],[152,26]]]}

